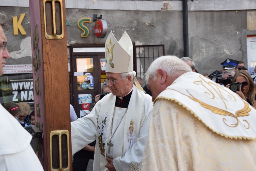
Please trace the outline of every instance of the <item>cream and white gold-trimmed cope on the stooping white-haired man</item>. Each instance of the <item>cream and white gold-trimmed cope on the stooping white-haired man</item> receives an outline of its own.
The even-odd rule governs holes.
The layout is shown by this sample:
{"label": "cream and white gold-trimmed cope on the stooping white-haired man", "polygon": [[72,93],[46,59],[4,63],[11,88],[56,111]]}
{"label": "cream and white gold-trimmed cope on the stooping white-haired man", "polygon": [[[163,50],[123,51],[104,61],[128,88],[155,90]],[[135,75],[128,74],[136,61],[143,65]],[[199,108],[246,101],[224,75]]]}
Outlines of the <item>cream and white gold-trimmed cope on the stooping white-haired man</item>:
{"label": "cream and white gold-trimmed cope on the stooping white-haired man", "polygon": [[188,72],[154,101],[142,170],[256,170],[256,111]]}

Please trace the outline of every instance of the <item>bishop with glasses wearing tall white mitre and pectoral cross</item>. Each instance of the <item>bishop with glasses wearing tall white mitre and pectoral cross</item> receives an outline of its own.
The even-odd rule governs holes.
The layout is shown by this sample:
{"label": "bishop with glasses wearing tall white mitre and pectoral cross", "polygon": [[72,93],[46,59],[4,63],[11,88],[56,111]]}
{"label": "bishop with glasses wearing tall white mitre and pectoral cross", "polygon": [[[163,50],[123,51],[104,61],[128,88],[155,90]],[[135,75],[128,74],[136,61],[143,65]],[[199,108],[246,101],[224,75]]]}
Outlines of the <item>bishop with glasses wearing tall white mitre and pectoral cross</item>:
{"label": "bishop with glasses wearing tall white mitre and pectoral cross", "polygon": [[153,103],[135,78],[132,55],[128,34],[117,41],[111,32],[105,43],[104,84],[112,93],[98,101],[90,114],[71,123],[73,154],[96,140],[93,169],[97,171],[141,169]]}

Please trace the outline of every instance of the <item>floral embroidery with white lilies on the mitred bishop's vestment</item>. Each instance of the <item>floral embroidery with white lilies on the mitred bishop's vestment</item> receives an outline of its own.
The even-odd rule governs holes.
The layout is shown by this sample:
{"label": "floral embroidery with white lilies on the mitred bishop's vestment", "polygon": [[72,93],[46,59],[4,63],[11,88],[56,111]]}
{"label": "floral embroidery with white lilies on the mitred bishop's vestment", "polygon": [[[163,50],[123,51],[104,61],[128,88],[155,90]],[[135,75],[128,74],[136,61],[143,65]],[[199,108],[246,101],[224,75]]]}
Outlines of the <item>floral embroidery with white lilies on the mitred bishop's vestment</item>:
{"label": "floral embroidery with white lilies on the mitred bishop's vestment", "polygon": [[100,147],[100,154],[105,157],[105,141],[107,139],[107,128],[109,127],[109,113],[107,112],[105,115],[100,117],[100,122],[98,122],[98,140]]}

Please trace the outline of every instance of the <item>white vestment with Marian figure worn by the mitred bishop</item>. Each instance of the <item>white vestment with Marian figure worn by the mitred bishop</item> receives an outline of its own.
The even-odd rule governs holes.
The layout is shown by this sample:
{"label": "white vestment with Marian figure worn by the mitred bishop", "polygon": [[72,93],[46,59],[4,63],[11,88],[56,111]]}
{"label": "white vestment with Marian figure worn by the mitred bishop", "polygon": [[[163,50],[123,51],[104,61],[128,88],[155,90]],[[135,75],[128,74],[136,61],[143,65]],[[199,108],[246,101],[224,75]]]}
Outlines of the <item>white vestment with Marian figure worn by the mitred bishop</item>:
{"label": "white vestment with Marian figure worn by the mitred bishop", "polygon": [[[148,124],[153,108],[151,96],[133,86],[130,102],[125,108],[115,107],[116,96],[108,94],[96,103],[89,115],[71,123],[72,153],[96,139],[94,170],[106,170],[106,156],[113,158],[116,170],[141,169],[142,155],[148,133]],[[122,121],[120,122],[122,116]],[[114,116],[114,118],[113,118]],[[111,125],[113,128],[111,144]],[[126,134],[133,122],[133,133],[137,140],[127,150]],[[120,123],[120,124],[119,124]],[[119,126],[118,126],[119,124]],[[110,147],[110,153],[108,153]]]}

